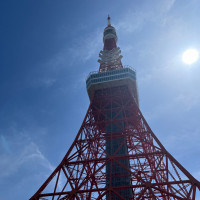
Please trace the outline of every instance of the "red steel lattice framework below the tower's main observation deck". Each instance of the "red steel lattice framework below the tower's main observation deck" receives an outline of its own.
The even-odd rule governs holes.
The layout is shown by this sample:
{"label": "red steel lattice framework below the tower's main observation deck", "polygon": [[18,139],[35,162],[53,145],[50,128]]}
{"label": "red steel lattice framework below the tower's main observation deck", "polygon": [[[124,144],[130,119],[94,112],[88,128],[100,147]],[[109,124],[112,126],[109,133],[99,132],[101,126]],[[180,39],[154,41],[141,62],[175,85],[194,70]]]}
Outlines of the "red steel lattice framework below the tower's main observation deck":
{"label": "red steel lattice framework below the tower's main observation deck", "polygon": [[[111,113],[115,113],[112,118]],[[123,131],[107,134],[105,127],[109,124]],[[123,142],[108,153],[106,143],[115,139]],[[128,154],[119,155],[124,145]],[[124,159],[130,162],[128,168],[123,165]],[[129,174],[129,186],[106,187],[106,182],[116,176],[114,168],[109,178],[106,174],[106,165],[113,163]],[[128,188],[134,194],[131,199],[194,200],[200,183],[160,143],[127,86],[98,90],[66,156],[31,200],[103,200],[108,195],[109,199],[127,200],[120,190]]]}

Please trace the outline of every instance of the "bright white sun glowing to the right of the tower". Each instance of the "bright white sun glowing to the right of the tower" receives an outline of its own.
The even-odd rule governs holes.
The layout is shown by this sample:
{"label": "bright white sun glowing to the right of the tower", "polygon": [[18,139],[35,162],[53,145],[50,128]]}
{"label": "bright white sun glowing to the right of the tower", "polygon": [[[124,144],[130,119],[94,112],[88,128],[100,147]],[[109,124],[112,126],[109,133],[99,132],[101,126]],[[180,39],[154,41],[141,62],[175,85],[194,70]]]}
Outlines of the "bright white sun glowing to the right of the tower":
{"label": "bright white sun glowing to the right of the tower", "polygon": [[185,64],[191,65],[199,58],[199,52],[196,49],[188,49],[182,55],[182,60]]}

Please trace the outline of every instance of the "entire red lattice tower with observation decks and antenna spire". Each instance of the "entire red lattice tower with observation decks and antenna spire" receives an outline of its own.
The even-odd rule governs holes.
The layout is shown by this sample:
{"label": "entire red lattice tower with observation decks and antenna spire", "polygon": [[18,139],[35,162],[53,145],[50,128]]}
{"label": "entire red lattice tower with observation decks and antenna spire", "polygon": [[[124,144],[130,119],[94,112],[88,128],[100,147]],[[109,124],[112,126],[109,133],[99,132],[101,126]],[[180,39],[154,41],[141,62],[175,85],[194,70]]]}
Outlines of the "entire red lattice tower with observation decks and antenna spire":
{"label": "entire red lattice tower with observation decks and antenna spire", "polygon": [[30,200],[195,200],[196,180],[161,144],[139,109],[136,72],[122,65],[116,30],[103,33],[90,105],[67,154]]}

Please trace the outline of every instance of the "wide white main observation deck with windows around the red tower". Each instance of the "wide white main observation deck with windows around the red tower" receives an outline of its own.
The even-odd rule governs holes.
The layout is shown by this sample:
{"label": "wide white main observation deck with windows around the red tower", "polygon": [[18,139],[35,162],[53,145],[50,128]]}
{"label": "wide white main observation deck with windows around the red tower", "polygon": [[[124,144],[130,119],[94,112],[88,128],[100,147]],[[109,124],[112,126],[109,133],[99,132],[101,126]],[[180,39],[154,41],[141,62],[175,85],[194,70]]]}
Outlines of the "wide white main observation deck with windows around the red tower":
{"label": "wide white main observation deck with windows around the red tower", "polygon": [[86,79],[86,87],[90,101],[96,90],[122,85],[127,85],[130,88],[134,99],[139,105],[136,71],[129,66],[107,72],[91,72]]}

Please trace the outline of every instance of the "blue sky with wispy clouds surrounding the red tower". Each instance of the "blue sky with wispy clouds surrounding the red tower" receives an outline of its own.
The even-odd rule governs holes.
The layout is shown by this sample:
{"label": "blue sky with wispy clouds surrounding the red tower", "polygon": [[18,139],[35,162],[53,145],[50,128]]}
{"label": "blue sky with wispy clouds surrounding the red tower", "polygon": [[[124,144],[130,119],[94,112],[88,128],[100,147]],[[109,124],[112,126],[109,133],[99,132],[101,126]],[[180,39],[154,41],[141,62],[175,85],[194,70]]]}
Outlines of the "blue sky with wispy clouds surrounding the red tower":
{"label": "blue sky with wispy clouds surrounding the red tower", "polygon": [[167,150],[200,179],[200,1],[3,0],[0,4],[0,200],[25,200],[59,164],[86,114],[108,13],[140,108]]}

